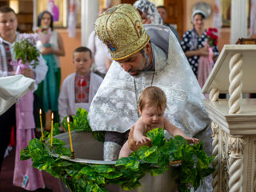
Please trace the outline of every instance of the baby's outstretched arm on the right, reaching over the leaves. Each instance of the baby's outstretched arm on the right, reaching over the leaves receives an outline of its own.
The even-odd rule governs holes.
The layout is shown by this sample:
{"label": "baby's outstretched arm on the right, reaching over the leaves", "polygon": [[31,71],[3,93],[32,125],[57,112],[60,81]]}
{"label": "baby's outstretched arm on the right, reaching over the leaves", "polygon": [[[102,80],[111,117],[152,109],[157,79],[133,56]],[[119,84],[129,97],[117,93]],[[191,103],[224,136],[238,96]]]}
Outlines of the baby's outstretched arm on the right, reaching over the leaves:
{"label": "baby's outstretched arm on the right, reaching over the leaves", "polygon": [[167,118],[164,120],[164,128],[168,131],[169,134],[176,136],[176,135],[181,135],[183,138],[186,138],[186,141],[191,143],[198,143],[199,140],[198,138],[188,138],[186,137],[186,134],[179,129],[177,126],[174,126]]}

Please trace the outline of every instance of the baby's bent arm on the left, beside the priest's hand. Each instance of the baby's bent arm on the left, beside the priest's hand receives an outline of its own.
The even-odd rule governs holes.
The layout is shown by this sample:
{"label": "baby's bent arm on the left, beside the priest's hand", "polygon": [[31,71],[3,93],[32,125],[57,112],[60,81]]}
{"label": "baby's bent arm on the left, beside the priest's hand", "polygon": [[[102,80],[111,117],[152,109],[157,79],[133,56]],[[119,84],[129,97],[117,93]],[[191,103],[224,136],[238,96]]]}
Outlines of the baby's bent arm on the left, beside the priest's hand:
{"label": "baby's bent arm on the left, beside the priest's hand", "polygon": [[150,141],[150,138],[147,138],[144,133],[146,133],[145,125],[144,123],[140,122],[139,119],[138,122],[136,122],[134,125],[134,141],[136,144]]}

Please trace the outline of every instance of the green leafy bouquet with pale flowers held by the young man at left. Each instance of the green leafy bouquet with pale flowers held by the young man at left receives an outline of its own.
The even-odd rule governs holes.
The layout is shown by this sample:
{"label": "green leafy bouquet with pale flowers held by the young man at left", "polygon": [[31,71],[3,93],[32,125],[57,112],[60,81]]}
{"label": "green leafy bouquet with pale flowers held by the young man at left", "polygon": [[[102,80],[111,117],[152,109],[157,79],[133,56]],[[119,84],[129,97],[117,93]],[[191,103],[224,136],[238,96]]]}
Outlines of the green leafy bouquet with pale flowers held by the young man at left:
{"label": "green leafy bouquet with pale flowers held by the young man at left", "polygon": [[36,36],[34,34],[31,34],[30,38],[28,36],[29,34],[21,34],[21,41],[14,43],[14,58],[16,60],[13,60],[11,65],[16,67],[16,74],[21,74],[21,71],[30,65],[34,69],[38,66],[38,57],[40,54],[33,44],[36,42]]}

